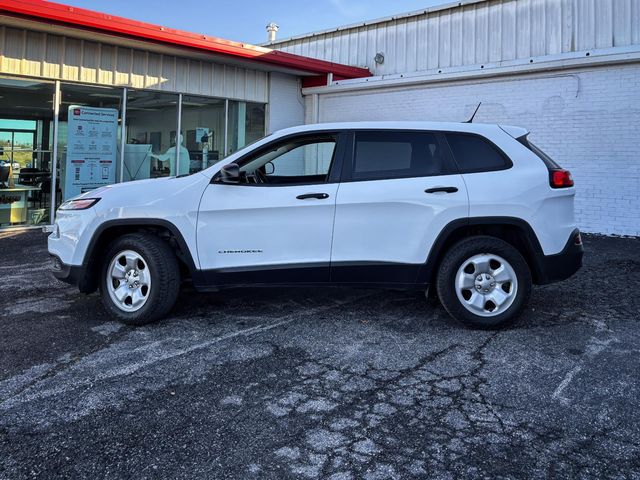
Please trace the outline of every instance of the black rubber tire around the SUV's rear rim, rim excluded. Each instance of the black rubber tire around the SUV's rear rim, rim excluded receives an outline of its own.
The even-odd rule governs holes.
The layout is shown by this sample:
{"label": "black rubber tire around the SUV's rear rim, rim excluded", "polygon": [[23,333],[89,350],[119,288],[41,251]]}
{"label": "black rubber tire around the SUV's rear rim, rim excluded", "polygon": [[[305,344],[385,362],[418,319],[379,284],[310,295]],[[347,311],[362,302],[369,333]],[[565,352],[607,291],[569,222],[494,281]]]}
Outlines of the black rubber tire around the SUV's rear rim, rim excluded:
{"label": "black rubber tire around the SUV's rear rim, rim excluded", "polygon": [[[467,260],[479,254],[502,257],[510,264],[517,279],[517,290],[512,303],[503,312],[489,317],[468,310],[456,292],[458,270]],[[454,319],[470,327],[485,329],[502,327],[515,320],[529,300],[531,283],[531,270],[520,252],[504,240],[489,236],[469,237],[453,245],[440,264],[436,281],[440,302]],[[508,285],[505,286],[507,287]],[[473,289],[469,290],[472,292]]]}

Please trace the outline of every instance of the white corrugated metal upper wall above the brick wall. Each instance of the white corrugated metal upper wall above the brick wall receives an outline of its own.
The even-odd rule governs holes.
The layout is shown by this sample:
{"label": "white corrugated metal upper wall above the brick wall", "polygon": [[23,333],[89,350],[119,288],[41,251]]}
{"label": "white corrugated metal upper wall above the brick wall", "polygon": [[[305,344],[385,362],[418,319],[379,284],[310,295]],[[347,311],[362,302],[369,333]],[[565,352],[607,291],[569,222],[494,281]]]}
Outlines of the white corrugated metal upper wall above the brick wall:
{"label": "white corrugated metal upper wall above the brick wall", "polygon": [[270,46],[385,75],[638,44],[640,0],[487,0]]}

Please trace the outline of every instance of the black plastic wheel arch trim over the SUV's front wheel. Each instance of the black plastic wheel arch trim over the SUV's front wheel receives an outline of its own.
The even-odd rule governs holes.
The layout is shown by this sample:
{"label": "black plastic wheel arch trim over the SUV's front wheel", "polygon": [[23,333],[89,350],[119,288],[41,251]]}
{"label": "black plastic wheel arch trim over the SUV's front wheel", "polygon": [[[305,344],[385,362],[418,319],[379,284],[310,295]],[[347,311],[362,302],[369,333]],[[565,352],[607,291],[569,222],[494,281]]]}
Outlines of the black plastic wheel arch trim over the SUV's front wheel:
{"label": "black plastic wheel arch trim over the SUV's front wheel", "polygon": [[187,242],[178,227],[168,220],[149,218],[109,220],[96,229],[89,241],[82,262],[82,271],[78,276],[78,289],[82,293],[92,293],[97,290],[100,282],[96,273],[109,244],[121,235],[137,232],[152,233],[167,241],[176,253],[181,273],[193,275],[196,272],[197,268]]}

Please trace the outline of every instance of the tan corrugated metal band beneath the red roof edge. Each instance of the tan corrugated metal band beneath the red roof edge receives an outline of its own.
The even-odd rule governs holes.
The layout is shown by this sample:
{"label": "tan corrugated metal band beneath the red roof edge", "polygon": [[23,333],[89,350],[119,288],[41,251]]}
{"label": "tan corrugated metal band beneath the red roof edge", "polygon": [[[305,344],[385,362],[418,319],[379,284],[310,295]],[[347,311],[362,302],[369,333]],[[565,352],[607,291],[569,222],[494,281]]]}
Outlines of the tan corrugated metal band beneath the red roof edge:
{"label": "tan corrugated metal band beneath the red roof edge", "polygon": [[268,101],[266,72],[7,26],[0,73]]}

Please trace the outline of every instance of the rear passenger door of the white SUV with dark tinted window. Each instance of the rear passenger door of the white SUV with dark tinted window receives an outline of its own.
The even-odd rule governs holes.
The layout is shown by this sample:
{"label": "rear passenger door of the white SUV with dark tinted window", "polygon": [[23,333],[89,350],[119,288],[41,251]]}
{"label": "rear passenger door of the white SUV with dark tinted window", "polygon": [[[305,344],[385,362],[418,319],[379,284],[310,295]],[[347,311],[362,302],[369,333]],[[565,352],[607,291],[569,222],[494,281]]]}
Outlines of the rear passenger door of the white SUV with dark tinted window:
{"label": "rear passenger door of the white SUV with dark tinted window", "polygon": [[440,231],[467,218],[462,176],[437,132],[351,133],[336,200],[331,280],[414,283]]}

